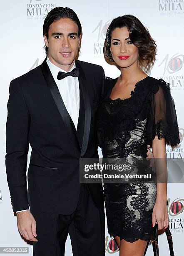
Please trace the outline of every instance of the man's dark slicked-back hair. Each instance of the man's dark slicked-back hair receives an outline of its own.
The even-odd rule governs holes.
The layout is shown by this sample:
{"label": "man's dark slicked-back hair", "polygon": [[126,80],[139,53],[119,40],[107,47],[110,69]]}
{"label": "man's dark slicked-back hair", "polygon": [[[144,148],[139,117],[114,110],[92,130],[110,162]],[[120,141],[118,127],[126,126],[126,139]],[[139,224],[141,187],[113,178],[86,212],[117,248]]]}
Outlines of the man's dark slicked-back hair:
{"label": "man's dark slicked-back hair", "polygon": [[[78,36],[80,36],[80,34],[82,33],[82,26],[80,24],[80,20],[77,17],[77,14],[75,13],[75,11],[68,7],[60,7],[59,6],[59,7],[52,9],[45,17],[45,20],[43,23],[43,34],[47,37],[47,39],[49,36],[48,34],[49,34],[50,25],[55,20],[60,20],[62,18],[68,18],[70,20],[73,20],[78,26]],[[44,48],[47,53],[48,47],[45,45]]]}

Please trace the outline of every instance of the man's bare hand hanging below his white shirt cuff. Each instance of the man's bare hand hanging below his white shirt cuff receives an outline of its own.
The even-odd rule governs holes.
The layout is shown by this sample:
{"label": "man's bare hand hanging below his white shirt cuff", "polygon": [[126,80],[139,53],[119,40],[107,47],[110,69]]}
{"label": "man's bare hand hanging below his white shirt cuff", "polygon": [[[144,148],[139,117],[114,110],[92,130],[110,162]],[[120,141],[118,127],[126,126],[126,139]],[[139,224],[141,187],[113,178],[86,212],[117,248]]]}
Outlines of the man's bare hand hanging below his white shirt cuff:
{"label": "man's bare hand hanging below his white shirt cuff", "polygon": [[30,211],[17,212],[17,227],[26,240],[37,242],[36,221]]}

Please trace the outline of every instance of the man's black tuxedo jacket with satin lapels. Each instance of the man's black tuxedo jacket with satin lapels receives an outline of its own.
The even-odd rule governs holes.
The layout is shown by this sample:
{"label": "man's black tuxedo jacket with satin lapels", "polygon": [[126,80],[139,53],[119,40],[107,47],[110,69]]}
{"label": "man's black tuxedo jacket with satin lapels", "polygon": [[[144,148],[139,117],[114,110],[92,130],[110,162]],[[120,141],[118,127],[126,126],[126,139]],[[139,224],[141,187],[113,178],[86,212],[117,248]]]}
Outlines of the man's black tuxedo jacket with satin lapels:
{"label": "man's black tuxedo jacket with satin lapels", "polygon": [[[72,214],[80,195],[79,159],[98,158],[97,108],[104,86],[102,67],[76,61],[80,69],[80,112],[77,131],[46,59],[11,81],[7,103],[6,172],[13,211],[30,207]],[[32,148],[26,167],[28,147]],[[103,205],[102,184],[88,184]]]}

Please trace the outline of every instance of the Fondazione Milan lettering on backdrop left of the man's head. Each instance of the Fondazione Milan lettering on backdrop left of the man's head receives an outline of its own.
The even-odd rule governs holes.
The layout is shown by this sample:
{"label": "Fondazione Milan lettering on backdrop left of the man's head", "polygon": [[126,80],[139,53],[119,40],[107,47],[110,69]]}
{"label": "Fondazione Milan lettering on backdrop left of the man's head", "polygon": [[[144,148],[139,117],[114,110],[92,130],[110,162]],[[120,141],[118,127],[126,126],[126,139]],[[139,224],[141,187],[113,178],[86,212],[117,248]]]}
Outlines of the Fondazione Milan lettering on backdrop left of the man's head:
{"label": "Fondazione Milan lettering on backdrop left of the man's head", "polygon": [[27,20],[43,20],[47,13],[56,6],[56,3],[43,3],[43,0],[30,0],[30,2],[26,4]]}

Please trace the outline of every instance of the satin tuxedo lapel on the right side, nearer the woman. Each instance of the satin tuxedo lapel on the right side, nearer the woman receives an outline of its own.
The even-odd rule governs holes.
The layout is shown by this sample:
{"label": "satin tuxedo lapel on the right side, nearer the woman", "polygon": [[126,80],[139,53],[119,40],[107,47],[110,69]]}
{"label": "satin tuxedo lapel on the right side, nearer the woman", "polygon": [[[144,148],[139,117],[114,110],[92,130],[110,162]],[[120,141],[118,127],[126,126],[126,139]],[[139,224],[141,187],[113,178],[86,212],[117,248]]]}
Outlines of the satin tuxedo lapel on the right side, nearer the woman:
{"label": "satin tuxedo lapel on the right side, nearer the woman", "polygon": [[82,141],[82,149],[81,149],[81,155],[80,157],[84,156],[88,141],[89,141],[89,136],[90,136],[90,125],[91,125],[91,105],[90,105],[90,97],[87,92],[87,81],[85,78],[84,71],[82,67],[80,66],[79,62],[76,61],[76,67],[79,68],[79,83],[82,88],[82,95],[83,95],[83,100],[84,100],[84,105],[85,105],[85,128],[84,128],[84,135],[83,135],[83,141]]}

